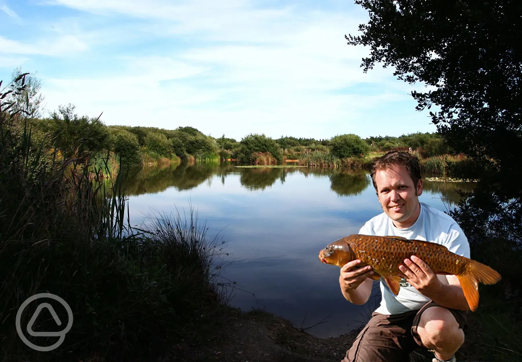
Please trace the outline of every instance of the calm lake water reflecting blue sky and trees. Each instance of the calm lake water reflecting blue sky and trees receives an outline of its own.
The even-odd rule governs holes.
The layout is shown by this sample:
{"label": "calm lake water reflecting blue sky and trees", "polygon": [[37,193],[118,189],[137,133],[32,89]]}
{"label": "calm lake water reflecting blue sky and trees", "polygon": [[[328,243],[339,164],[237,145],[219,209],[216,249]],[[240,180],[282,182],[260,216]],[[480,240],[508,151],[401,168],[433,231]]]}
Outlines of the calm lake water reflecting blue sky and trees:
{"label": "calm lake water reflecting blue sky and trees", "polygon": [[[458,201],[457,190],[473,186],[425,181],[420,200],[446,211]],[[200,221],[207,221],[209,237],[221,231],[232,261],[222,275],[249,292],[234,291],[234,307],[261,308],[297,327],[326,318],[308,332],[329,337],[365,322],[378,305],[376,285],[364,306],[345,300],[339,268],[317,256],[382,213],[371,178],[361,169],[160,165],[138,171],[126,189],[133,225],[155,211],[188,212],[192,203]]]}

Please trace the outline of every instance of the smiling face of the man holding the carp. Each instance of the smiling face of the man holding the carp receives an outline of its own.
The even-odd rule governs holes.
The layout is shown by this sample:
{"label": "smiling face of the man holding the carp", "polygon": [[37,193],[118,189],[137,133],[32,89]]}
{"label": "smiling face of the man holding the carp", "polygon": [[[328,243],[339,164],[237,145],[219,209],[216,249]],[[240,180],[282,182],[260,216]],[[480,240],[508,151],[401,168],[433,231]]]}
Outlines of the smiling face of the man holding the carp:
{"label": "smiling face of the man holding the carp", "polygon": [[420,212],[422,180],[414,185],[406,167],[392,165],[375,172],[375,184],[379,202],[395,226],[408,228],[413,225]]}

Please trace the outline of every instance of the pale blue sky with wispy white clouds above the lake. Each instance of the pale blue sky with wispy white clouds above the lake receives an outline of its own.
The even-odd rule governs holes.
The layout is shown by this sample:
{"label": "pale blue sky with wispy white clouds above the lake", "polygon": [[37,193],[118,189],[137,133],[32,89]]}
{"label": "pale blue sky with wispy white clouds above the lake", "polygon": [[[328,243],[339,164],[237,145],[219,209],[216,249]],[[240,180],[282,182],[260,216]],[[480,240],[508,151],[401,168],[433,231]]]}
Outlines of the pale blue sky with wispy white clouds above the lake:
{"label": "pale blue sky with wispy white clouds above the lake", "polygon": [[433,132],[393,69],[346,44],[346,1],[0,0],[0,79],[37,72],[45,108],[241,139]]}

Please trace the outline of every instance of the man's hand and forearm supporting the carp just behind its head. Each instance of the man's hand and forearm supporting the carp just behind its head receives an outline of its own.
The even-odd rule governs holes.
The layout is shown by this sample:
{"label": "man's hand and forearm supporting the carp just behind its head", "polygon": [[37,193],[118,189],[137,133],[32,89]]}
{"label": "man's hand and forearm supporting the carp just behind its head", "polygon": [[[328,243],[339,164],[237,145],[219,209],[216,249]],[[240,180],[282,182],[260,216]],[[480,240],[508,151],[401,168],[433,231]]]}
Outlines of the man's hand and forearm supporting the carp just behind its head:
{"label": "man's hand and forearm supporting the carp just behind its head", "polygon": [[[359,259],[352,260],[341,267],[341,275],[339,276],[339,284],[341,286],[342,294],[346,299],[355,304],[364,304],[372,291],[372,280],[368,279],[373,275],[372,267],[366,265],[359,267],[361,264]],[[369,282],[366,282],[368,279]],[[364,290],[355,290],[362,283],[365,284]]]}

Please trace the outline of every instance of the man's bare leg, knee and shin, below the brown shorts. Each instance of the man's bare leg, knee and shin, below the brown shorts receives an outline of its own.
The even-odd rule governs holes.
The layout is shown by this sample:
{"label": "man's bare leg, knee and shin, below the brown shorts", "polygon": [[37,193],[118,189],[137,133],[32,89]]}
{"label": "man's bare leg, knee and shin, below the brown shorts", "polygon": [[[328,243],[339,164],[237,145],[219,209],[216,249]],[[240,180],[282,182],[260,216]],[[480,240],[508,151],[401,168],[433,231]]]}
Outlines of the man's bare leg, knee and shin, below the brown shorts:
{"label": "man's bare leg, knee and shin, below the brown shorts", "polygon": [[462,321],[457,321],[456,317],[458,313],[452,313],[444,307],[430,306],[421,310],[416,332],[422,344],[428,349],[434,349],[435,357],[439,359],[452,358],[464,343]]}

